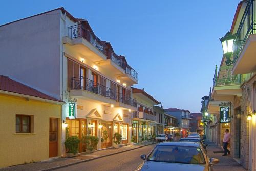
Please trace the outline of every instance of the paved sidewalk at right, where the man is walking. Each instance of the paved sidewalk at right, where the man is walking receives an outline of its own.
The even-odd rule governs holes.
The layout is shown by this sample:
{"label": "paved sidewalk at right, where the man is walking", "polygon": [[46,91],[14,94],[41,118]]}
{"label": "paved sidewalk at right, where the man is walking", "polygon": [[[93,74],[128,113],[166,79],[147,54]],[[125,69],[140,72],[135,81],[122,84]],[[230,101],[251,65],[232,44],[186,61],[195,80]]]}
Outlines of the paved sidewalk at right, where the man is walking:
{"label": "paved sidewalk at right, where the man is walking", "polygon": [[222,148],[219,148],[214,143],[205,142],[207,146],[207,156],[209,158],[214,157],[219,159],[219,164],[214,165],[214,171],[245,171],[240,164],[238,164],[230,155],[222,156],[223,153],[214,153],[223,151]]}

